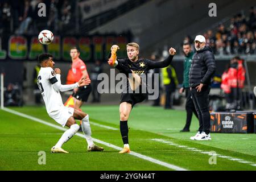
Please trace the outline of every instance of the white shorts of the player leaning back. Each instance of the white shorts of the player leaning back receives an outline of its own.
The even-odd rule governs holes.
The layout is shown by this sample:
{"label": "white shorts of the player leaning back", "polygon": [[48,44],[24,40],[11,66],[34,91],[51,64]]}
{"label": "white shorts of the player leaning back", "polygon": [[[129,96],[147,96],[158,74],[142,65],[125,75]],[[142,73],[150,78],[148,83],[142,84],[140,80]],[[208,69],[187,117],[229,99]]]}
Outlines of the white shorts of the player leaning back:
{"label": "white shorts of the player leaning back", "polygon": [[49,113],[49,117],[54,119],[62,127],[65,127],[68,118],[73,116],[74,108],[61,106],[60,110]]}

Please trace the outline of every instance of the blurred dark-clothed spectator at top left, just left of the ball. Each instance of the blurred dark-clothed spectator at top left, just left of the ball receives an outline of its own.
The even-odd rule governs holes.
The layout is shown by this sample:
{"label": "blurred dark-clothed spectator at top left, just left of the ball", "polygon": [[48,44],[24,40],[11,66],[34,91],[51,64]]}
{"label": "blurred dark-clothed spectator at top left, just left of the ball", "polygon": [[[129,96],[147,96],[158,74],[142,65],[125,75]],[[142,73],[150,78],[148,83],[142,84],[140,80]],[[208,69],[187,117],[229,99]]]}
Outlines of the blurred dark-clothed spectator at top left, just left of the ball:
{"label": "blurred dark-clothed spectator at top left, just left of the ball", "polygon": [[16,34],[26,34],[28,30],[28,26],[32,22],[33,12],[32,6],[30,5],[29,0],[24,0],[24,5],[21,9],[21,14],[19,16],[20,26],[16,30]]}

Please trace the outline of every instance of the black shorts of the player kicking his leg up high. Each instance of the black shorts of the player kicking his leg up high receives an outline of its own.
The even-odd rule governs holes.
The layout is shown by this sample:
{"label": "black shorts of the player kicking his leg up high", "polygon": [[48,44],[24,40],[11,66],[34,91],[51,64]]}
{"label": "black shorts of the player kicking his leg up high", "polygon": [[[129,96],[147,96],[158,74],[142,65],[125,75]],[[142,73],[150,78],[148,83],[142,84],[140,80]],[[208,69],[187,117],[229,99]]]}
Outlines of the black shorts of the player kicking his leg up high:
{"label": "black shorts of the player kicking his leg up high", "polygon": [[146,93],[123,93],[120,99],[120,104],[122,102],[128,102],[133,107],[135,104],[144,101],[146,98]]}

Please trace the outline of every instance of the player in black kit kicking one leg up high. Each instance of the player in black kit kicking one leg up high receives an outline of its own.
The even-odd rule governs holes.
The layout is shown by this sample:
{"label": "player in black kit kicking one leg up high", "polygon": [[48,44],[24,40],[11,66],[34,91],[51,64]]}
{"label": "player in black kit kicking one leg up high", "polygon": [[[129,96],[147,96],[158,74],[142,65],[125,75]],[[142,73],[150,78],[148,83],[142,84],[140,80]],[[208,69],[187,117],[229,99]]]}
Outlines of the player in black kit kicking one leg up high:
{"label": "player in black kit kicking one leg up high", "polygon": [[[139,59],[139,45],[137,43],[128,43],[126,45],[128,59],[116,59],[115,52],[113,50],[119,49],[117,45],[112,46],[112,56],[110,57],[108,63],[109,65],[117,68],[121,73],[127,76],[127,93],[122,93],[119,113],[120,113],[120,131],[123,140],[123,150],[119,154],[129,153],[129,140],[128,140],[128,125],[127,120],[133,106],[139,102],[144,101],[147,98],[147,93],[141,92],[141,86],[147,83],[143,82],[141,79],[142,74],[147,74],[148,70],[154,68],[164,68],[170,65],[172,58],[174,57],[176,50],[174,48],[169,49],[170,55],[164,61],[151,61],[148,59]],[[141,75],[141,76],[140,76]],[[131,77],[130,77],[131,76]],[[139,86],[134,86],[139,85]],[[129,87],[131,90],[140,89],[140,92],[129,92]]]}

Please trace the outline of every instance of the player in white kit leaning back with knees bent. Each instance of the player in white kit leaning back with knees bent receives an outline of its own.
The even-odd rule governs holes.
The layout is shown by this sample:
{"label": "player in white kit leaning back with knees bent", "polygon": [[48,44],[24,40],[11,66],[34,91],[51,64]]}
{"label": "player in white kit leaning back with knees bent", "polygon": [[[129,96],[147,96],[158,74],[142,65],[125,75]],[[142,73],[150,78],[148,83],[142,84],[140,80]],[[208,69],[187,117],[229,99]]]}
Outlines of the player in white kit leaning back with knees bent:
{"label": "player in white kit leaning back with knees bent", "polygon": [[[90,84],[90,79],[81,78],[78,82],[71,85],[61,85],[60,69],[54,69],[53,56],[49,53],[42,53],[38,56],[41,69],[38,74],[38,87],[42,93],[46,110],[49,117],[54,119],[61,126],[69,127],[59,141],[51,148],[52,153],[68,153],[63,150],[61,146],[73,137],[79,130],[75,119],[82,120],[82,131],[84,132],[86,141],[88,143],[88,151],[103,151],[104,148],[96,146],[92,140],[92,132],[90,130],[89,115],[73,109],[72,107],[65,107],[63,105],[60,92],[72,90],[79,86]],[[54,69],[54,70],[53,70]]]}

